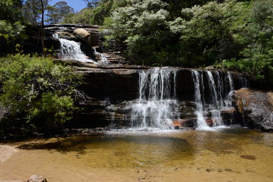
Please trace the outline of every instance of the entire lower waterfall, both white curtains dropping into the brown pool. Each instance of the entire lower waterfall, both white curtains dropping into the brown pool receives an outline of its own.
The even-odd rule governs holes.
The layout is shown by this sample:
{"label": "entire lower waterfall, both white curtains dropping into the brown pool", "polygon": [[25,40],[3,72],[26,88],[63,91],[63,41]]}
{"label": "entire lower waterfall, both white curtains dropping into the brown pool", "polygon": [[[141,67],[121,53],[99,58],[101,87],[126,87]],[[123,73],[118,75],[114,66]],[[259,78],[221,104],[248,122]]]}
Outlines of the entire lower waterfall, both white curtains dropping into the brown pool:
{"label": "entire lower waterfall, both white curtains dropping into the brown pool", "polygon": [[[138,99],[131,104],[132,128],[173,129],[180,120],[183,101],[177,99],[178,68],[156,67],[139,72]],[[197,128],[223,126],[221,113],[230,110],[233,79],[230,72],[191,70],[194,84],[194,119]],[[205,85],[205,86],[204,86]],[[184,115],[185,116],[185,115]]]}

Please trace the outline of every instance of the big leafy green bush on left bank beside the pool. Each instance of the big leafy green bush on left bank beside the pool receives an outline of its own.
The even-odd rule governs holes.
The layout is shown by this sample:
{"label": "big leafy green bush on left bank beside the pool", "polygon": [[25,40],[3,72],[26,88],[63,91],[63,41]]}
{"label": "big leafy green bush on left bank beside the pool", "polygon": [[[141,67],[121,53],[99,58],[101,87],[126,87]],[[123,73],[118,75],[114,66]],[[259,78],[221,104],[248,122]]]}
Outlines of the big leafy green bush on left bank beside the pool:
{"label": "big leafy green bush on left bank beside the pool", "polygon": [[75,86],[81,77],[71,67],[28,55],[0,58],[1,128],[57,127],[71,119]]}

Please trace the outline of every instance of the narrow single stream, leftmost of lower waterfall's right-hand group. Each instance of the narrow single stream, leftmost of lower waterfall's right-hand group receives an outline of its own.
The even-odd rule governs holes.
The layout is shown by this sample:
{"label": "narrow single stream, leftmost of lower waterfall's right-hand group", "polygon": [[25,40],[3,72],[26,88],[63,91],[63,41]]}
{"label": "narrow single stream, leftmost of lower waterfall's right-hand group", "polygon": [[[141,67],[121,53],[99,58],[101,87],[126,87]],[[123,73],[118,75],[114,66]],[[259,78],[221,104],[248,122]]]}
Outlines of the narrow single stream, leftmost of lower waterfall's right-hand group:
{"label": "narrow single stream, leftmost of lower waterfall's right-hand group", "polygon": [[[200,91],[200,86],[202,86],[203,96],[204,96],[203,75],[200,76],[197,70],[192,70],[192,76],[193,76],[194,86],[195,86],[195,103],[196,103],[195,114],[197,116],[197,124],[198,124],[198,127],[203,128],[207,126],[205,122],[205,118],[203,116],[203,100],[202,100],[201,91]],[[200,81],[202,84],[200,84]]]}

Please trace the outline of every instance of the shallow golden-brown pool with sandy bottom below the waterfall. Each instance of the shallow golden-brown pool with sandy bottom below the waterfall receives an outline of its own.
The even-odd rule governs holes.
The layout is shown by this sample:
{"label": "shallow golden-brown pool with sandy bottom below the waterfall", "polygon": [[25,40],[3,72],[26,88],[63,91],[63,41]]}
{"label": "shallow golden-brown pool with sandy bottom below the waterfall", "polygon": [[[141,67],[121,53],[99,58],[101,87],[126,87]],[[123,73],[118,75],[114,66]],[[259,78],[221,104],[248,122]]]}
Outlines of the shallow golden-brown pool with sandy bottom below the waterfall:
{"label": "shallow golden-brown pool with sandy bottom below the waterfall", "polygon": [[273,133],[243,128],[108,132],[13,145],[22,150],[0,164],[0,179],[273,182]]}

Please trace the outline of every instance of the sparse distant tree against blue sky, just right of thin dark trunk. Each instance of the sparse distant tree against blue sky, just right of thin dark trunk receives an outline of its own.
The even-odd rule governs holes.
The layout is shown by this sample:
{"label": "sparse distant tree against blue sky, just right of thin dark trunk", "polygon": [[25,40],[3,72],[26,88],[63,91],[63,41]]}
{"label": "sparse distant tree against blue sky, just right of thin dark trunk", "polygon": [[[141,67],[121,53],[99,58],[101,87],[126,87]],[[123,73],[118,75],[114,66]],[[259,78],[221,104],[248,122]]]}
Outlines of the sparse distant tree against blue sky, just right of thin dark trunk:
{"label": "sparse distant tree against blue sky, just right of thin dark trunk", "polygon": [[47,22],[49,23],[60,23],[64,17],[69,13],[73,13],[74,9],[68,5],[66,1],[60,1],[53,6],[47,7]]}

